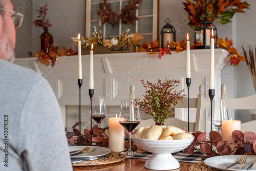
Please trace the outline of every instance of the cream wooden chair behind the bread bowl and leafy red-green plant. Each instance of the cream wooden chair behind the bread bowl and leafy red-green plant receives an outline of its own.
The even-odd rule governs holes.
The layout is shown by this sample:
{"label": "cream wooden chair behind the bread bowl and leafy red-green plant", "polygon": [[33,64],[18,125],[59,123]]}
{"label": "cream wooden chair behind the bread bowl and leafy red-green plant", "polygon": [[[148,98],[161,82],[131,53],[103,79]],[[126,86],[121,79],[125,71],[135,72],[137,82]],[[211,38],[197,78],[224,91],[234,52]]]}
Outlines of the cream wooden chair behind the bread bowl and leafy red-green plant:
{"label": "cream wooden chair behind the bread bowl and leafy red-green plant", "polygon": [[[134,86],[131,86],[131,94],[132,90],[134,92]],[[130,94],[130,98],[134,99],[134,95]],[[183,98],[183,103],[179,102],[178,105],[175,106],[175,109],[177,108],[186,108],[187,109],[187,97]],[[200,85],[199,87],[199,94],[197,98],[189,98],[189,108],[196,108],[196,122],[189,122],[189,132],[195,132],[195,131],[203,131],[203,116],[204,116],[204,86]],[[191,114],[190,114],[191,116]],[[176,127],[179,127],[180,129],[184,129],[186,127],[187,129],[187,121],[180,120],[178,118],[169,117],[164,122],[166,126],[173,125]],[[146,127],[149,125],[154,125],[155,121],[153,119],[146,119],[141,120],[138,127]]]}

